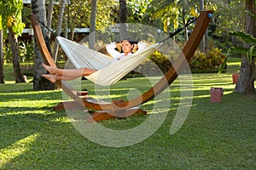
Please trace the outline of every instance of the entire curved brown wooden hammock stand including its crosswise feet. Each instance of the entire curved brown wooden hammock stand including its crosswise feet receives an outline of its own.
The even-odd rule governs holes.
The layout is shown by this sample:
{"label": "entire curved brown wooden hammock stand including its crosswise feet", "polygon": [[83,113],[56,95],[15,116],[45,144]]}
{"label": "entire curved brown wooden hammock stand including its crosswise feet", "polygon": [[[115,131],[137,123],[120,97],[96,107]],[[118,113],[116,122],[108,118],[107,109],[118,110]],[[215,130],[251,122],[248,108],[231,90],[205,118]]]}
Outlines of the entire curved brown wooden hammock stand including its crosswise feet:
{"label": "entire curved brown wooden hammock stand including its crosswise feet", "polygon": [[[138,105],[142,105],[154,96],[163,92],[178,76],[178,74],[183,71],[185,64],[192,58],[195,53],[196,48],[201,42],[201,38],[207,31],[207,26],[211,20],[212,10],[201,11],[198,19],[196,20],[195,28],[192,31],[189,41],[185,44],[182,54],[173,63],[169,71],[166,72],[165,76],[157,82],[154,87],[149,88],[144,94],[141,94],[135,99],[130,99],[124,101],[123,99],[113,100],[112,102],[105,102],[98,99],[93,99],[88,96],[87,92],[79,92],[74,90],[67,81],[57,81],[55,82],[59,85],[62,90],[71,98],[73,101],[61,102],[59,105],[55,105],[54,110],[60,111],[63,109],[72,110],[82,108],[90,108],[95,111],[91,116],[87,117],[87,122],[98,122],[102,120],[108,120],[113,118],[122,118],[131,116],[134,114],[147,114],[147,111],[143,111],[138,108]],[[38,20],[35,15],[31,15],[32,27],[34,31],[34,36],[38,42],[38,48],[44,61],[47,65],[56,67],[54,60],[49,54],[48,48],[44,42],[44,37],[41,31]],[[183,57],[185,56],[185,57]]]}

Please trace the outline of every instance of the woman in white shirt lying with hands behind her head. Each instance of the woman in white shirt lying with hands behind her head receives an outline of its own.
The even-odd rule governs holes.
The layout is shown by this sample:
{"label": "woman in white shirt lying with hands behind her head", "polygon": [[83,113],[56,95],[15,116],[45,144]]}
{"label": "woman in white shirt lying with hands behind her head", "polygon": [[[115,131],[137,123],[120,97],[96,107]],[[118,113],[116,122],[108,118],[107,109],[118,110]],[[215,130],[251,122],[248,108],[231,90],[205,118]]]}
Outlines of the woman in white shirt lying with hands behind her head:
{"label": "woman in white shirt lying with hands behind her head", "polygon": [[[115,48],[121,47],[122,52],[120,53]],[[106,45],[106,49],[110,55],[113,56],[113,60],[110,65],[115,61],[122,59],[122,57],[129,56],[136,51],[146,48],[147,45],[143,42],[133,42],[130,39],[124,39],[122,42],[112,42]],[[50,82],[56,82],[57,80],[73,80],[77,77],[86,77],[98,70],[91,68],[81,68],[81,69],[60,69],[53,66],[42,64],[44,69],[49,72],[49,74],[43,74],[42,77],[48,79]]]}

